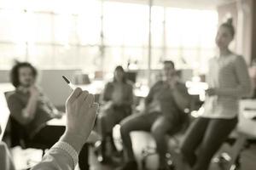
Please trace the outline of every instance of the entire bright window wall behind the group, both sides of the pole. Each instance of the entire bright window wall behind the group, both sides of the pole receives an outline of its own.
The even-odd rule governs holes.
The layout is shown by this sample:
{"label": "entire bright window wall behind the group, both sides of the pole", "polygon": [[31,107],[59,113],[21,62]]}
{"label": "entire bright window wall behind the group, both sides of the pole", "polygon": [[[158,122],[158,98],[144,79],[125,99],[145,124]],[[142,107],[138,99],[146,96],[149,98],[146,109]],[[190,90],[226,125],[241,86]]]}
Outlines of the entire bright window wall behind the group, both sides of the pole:
{"label": "entire bright window wall behind the group, both sides of the pole", "polygon": [[41,68],[113,71],[130,62],[147,69],[150,51],[153,69],[172,59],[178,68],[205,71],[214,54],[215,10],[153,6],[149,50],[148,4],[65,2],[0,2],[0,69],[9,69],[13,59]]}

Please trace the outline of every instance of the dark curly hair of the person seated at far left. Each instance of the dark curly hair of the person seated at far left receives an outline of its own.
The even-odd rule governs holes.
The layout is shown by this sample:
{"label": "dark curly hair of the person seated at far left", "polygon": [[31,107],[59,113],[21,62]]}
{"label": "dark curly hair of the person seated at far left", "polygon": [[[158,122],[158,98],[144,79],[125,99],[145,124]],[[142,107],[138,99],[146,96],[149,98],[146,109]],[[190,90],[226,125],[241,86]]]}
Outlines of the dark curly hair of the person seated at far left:
{"label": "dark curly hair of the person seated at far left", "polygon": [[15,86],[15,88],[20,86],[19,70],[22,67],[28,67],[32,70],[32,75],[34,78],[38,76],[37,69],[28,62],[17,62],[10,71],[10,82]]}

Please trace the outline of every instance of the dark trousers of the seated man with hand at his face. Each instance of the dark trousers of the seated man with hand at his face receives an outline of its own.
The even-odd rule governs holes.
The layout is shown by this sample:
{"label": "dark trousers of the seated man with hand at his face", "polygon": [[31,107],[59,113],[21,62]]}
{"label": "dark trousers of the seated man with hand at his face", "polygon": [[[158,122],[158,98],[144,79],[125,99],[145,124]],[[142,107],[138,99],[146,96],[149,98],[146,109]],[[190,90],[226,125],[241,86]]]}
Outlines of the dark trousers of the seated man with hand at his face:
{"label": "dark trousers of the seated man with hand at his face", "polygon": [[176,124],[170,122],[159,112],[128,116],[123,122],[120,123],[120,125],[120,133],[128,160],[135,160],[130,133],[132,131],[147,131],[151,132],[155,139],[157,151],[160,155],[160,165],[164,164],[166,161],[166,134],[172,135],[173,133],[177,133],[177,127],[180,127],[180,125],[177,126]]}

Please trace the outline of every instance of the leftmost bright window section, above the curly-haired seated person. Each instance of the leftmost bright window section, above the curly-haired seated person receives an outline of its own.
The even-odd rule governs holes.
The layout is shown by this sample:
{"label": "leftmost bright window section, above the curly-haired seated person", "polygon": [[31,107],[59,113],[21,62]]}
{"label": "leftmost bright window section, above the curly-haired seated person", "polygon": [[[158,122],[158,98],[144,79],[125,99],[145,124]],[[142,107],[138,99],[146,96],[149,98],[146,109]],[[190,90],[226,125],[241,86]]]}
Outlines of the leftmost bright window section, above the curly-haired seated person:
{"label": "leftmost bright window section, above the curly-haired seated person", "polygon": [[0,2],[0,69],[9,69],[14,59],[43,69],[98,69],[101,3],[65,2]]}

